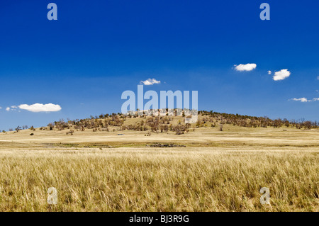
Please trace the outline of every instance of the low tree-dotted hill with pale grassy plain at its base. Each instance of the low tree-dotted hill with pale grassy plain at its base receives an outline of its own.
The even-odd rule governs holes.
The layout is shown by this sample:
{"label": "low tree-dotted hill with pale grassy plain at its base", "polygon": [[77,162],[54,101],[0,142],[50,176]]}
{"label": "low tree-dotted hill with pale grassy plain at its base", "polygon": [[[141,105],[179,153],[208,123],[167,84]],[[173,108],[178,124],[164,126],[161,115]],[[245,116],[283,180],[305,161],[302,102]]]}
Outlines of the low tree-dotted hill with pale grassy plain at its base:
{"label": "low tree-dotted hill with pale grassy plain at its base", "polygon": [[[270,120],[200,111],[182,116],[100,115],[60,120],[42,128],[2,132],[2,147],[145,147],[156,142],[186,147],[318,147],[317,123]],[[287,123],[288,122],[288,123]]]}

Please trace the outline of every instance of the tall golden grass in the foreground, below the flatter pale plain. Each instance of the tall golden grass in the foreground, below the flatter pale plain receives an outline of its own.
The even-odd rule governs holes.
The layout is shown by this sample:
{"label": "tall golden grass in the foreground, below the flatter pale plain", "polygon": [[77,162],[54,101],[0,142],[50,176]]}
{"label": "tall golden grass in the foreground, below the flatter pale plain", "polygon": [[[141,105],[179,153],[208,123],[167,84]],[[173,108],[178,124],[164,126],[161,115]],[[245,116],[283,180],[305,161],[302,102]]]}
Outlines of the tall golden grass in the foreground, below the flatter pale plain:
{"label": "tall golden grass in the foreground, below the flatter pale plain", "polygon": [[309,150],[1,150],[0,210],[318,211],[318,172]]}

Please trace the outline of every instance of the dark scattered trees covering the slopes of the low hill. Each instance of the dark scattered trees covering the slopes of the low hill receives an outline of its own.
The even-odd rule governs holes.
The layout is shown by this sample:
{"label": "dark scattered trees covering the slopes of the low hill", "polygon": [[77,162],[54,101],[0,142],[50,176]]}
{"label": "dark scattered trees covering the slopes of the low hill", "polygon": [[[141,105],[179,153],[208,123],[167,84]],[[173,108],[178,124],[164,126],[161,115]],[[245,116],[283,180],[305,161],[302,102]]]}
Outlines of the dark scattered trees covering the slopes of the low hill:
{"label": "dark scattered trees covering the slopes of the low hill", "polygon": [[[134,124],[124,125],[125,120],[128,118],[140,118],[136,120]],[[185,118],[182,117],[182,118]],[[46,127],[40,128],[40,130],[69,130],[67,135],[72,135],[74,130],[84,131],[86,129],[92,129],[96,131],[115,131],[112,127],[118,127],[118,130],[135,130],[135,131],[152,131],[152,132],[168,132],[173,131],[180,135],[184,132],[189,132],[191,125],[184,123],[183,120],[178,120],[178,123],[173,123],[174,116],[170,115],[123,115],[122,113],[112,114],[101,114],[99,116],[92,116],[85,119],[76,120],[59,120],[54,123],[49,123]],[[267,116],[257,117],[249,115],[239,115],[230,113],[218,113],[214,111],[198,111],[198,120],[195,123],[196,128],[201,127],[215,127],[220,126],[220,130],[223,130],[223,125],[236,125],[247,128],[296,128],[296,129],[312,129],[318,128],[319,123],[317,121],[304,120],[287,120],[286,118],[281,119],[270,119]],[[18,126],[15,128],[16,132],[19,130],[28,129],[27,125],[22,128]],[[30,130],[35,130],[33,126]],[[13,131],[10,129],[9,131]],[[3,130],[3,132],[6,132]]]}

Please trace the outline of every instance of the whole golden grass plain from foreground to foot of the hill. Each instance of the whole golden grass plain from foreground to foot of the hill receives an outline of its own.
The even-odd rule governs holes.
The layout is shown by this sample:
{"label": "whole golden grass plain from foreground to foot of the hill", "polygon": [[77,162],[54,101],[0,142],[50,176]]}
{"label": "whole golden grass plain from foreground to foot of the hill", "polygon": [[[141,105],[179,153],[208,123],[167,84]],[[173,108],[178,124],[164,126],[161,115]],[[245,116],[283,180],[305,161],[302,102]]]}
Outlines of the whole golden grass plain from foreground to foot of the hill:
{"label": "whole golden grass plain from foreground to foot of the hill", "polygon": [[0,211],[319,210],[319,130],[223,130],[1,133]]}

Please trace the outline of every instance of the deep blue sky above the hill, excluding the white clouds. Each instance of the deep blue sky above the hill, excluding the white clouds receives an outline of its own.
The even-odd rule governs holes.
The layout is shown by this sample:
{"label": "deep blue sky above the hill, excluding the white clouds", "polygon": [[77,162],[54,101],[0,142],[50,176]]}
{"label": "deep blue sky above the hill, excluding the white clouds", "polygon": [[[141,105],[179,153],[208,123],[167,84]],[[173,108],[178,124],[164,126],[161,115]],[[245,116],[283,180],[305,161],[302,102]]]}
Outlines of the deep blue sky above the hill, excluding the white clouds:
{"label": "deep blue sky above the hill, excluding the white clouds", "polygon": [[[197,90],[200,110],[319,120],[319,1],[1,1],[0,21],[1,130],[120,112],[149,78]],[[62,109],[11,107],[35,103]]]}

